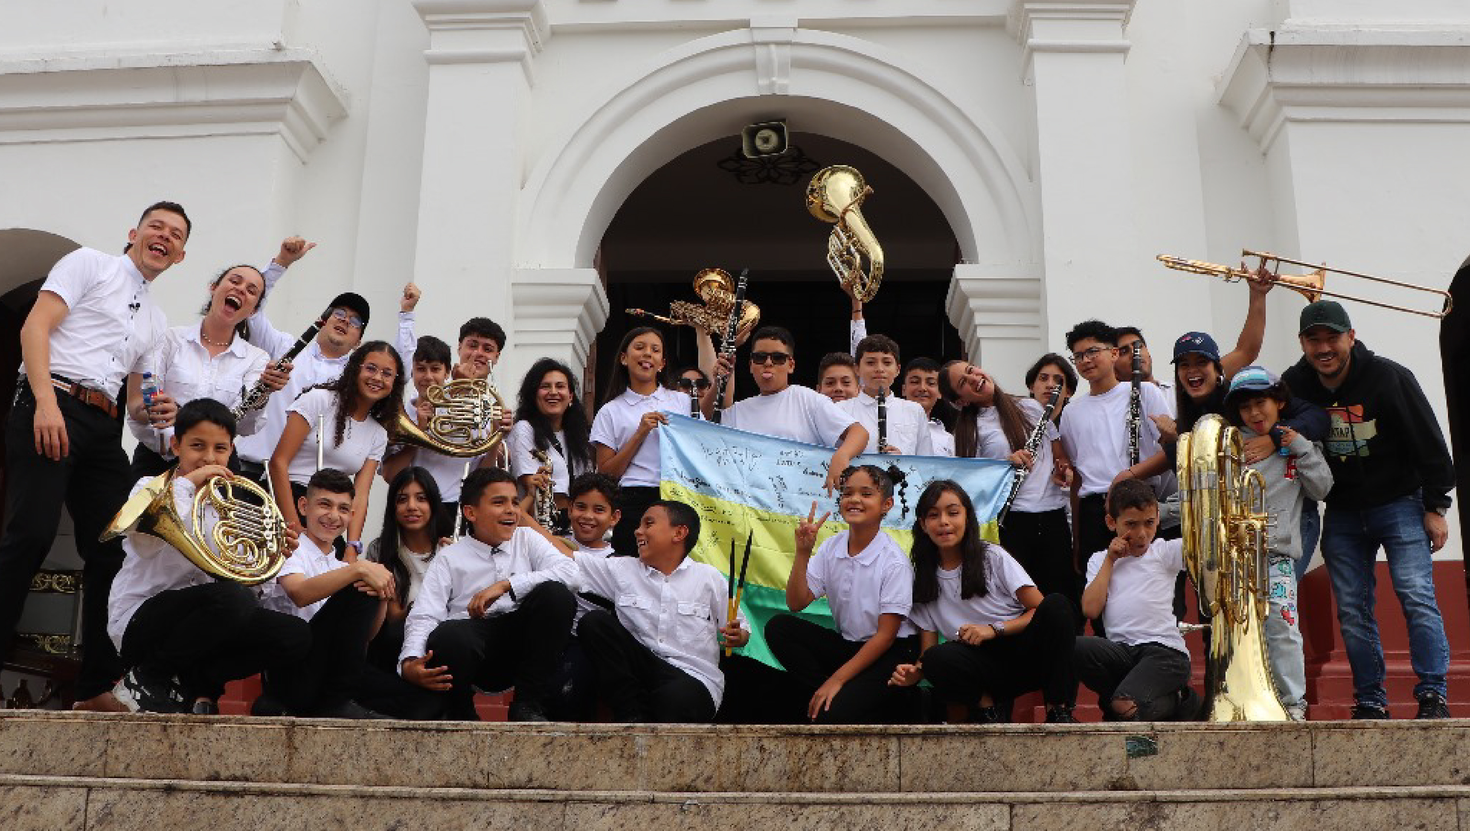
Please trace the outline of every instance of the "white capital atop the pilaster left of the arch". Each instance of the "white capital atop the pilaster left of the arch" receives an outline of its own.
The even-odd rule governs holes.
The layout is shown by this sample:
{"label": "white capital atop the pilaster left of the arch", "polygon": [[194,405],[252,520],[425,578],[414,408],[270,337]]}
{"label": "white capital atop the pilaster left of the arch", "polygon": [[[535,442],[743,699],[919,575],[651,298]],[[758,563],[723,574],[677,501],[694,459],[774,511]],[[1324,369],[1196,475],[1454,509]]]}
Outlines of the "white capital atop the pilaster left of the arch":
{"label": "white capital atop the pilaster left of the arch", "polygon": [[429,29],[423,59],[432,65],[519,62],[532,79],[532,60],[551,37],[542,0],[413,0]]}

